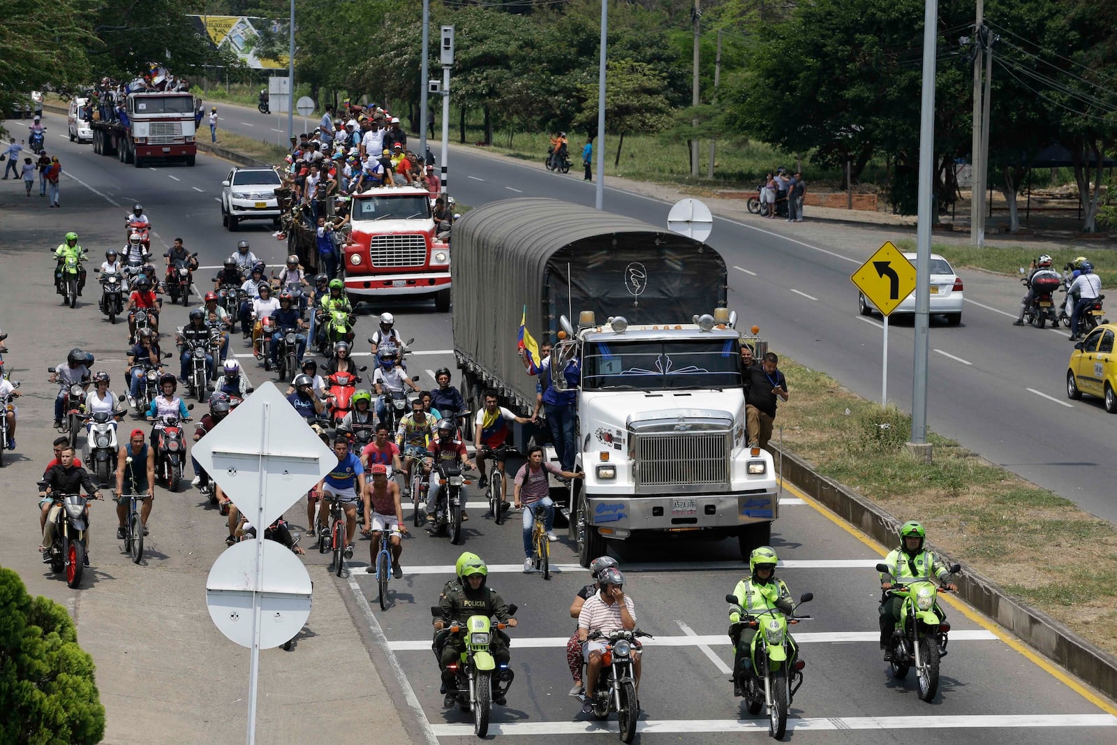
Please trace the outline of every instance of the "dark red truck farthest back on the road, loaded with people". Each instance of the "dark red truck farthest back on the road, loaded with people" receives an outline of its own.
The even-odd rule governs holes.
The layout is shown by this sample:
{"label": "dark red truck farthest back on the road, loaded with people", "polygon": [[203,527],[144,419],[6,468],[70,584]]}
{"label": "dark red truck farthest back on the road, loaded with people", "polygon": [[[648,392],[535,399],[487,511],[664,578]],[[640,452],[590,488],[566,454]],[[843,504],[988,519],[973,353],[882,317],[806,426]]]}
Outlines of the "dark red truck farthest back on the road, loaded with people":
{"label": "dark red truck farthest back on the road, loaded with people", "polygon": [[116,155],[122,163],[143,168],[153,161],[183,161],[194,164],[198,145],[194,127],[194,97],[181,90],[130,93],[124,113],[105,106],[109,118],[94,120],[93,152]]}

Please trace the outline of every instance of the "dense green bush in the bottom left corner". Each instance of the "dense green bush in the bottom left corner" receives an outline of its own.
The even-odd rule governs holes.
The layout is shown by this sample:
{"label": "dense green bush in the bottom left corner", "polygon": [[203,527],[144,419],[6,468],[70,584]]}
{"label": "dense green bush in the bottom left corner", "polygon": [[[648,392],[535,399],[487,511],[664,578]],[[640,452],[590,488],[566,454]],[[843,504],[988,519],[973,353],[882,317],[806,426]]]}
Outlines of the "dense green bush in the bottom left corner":
{"label": "dense green bush in the bottom left corner", "polygon": [[0,567],[0,742],[98,743],[105,707],[93,658],[58,603],[31,599],[19,575]]}

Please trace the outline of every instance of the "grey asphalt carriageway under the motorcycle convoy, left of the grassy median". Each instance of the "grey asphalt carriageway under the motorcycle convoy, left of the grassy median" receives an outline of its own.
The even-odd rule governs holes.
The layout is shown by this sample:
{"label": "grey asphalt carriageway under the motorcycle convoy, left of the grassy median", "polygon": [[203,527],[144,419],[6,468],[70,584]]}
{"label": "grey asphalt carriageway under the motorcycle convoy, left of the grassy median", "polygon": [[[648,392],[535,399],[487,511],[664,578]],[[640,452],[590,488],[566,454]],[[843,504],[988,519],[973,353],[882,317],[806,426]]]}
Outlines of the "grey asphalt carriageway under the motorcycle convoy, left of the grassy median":
{"label": "grey asphalt carriageway under the motorcycle convoy, left of the grassy median", "polygon": [[[7,356],[17,375],[28,381],[25,390],[29,394],[21,403],[23,429],[17,453],[23,460],[6,471],[16,485],[34,481],[41,464],[39,453],[47,451],[54,436],[36,423],[46,416],[52,391],[34,371],[50,364],[73,344],[94,351],[98,366],[106,365],[117,380],[123,362],[122,327],[111,328],[86,302],[77,311],[58,306],[47,279],[49,260],[44,258],[40,267],[30,252],[34,247],[54,246],[58,233],[77,226],[86,247],[99,254],[104,246],[120,240],[123,208],[142,199],[159,236],[166,242],[183,237],[189,247],[201,251],[203,265],[214,265],[242,235],[251,238],[254,250],[269,262],[283,255],[269,228],[236,237],[220,230],[213,184],[226,166],[217,161],[199,157],[194,169],[136,170],[93,156],[84,147],[79,152],[64,144],[58,150],[65,156],[67,173],[88,184],[65,182],[63,210],[37,207],[37,197],[23,200],[18,187],[3,193],[6,212],[12,217],[4,221],[7,240],[0,250],[15,270],[0,281],[10,297],[6,307],[18,307],[25,314],[12,317],[9,311],[3,318],[4,329],[12,332],[8,345],[13,353]],[[565,180],[554,183],[557,190]],[[741,292],[743,286],[736,286]],[[804,287],[803,292],[810,289]],[[404,334],[419,340],[421,354],[413,357],[412,372],[430,384],[427,371],[452,359],[449,318],[422,306],[393,311],[398,311]],[[16,325],[25,317],[32,323]],[[169,311],[164,328],[182,319],[181,307]],[[362,318],[359,338],[369,328],[370,321]],[[233,348],[246,352],[239,340]],[[254,381],[265,376],[248,357],[242,361]],[[1019,644],[1003,640],[961,609],[949,611],[955,632],[951,656],[944,662],[942,693],[935,701],[917,700],[910,681],[889,680],[873,643],[877,590],[870,567],[881,550],[862,543],[799,496],[785,493],[785,509],[773,536],[784,561],[781,575],[794,593],[812,591],[817,599],[806,606],[815,620],[798,632],[808,679],[792,707],[795,738],[850,742],[848,734],[838,730],[852,728],[858,729],[853,738],[858,743],[886,743],[908,737],[907,729],[947,726],[953,729],[948,736],[962,742],[1040,743],[1050,739],[1056,732],[1052,727],[1061,728],[1063,738],[1075,743],[1113,741],[1117,717],[1111,705],[1101,708],[1079,693],[1073,681],[1052,674],[1033,656],[1022,655]],[[201,609],[204,572],[220,552],[223,537],[218,516],[204,500],[189,489],[181,495],[161,495],[153,518],[153,553],[142,567],[117,554],[120,544],[112,538],[111,518],[99,505],[95,507],[95,514],[102,515],[94,522],[95,572],[80,593],[38,571],[35,513],[16,504],[9,500],[0,506],[4,518],[0,520],[0,538],[12,547],[4,563],[18,569],[32,591],[71,601],[82,641],[98,663],[98,681],[109,706],[109,742],[150,742],[151,732],[160,733],[160,742],[230,742],[239,737],[247,655],[223,640]],[[288,512],[296,527],[304,526],[304,506]],[[564,743],[589,743],[615,726],[585,722],[577,713],[577,703],[565,696],[571,680],[560,640],[573,629],[566,615],[569,602],[586,582],[569,541],[553,544],[552,558],[558,571],[545,582],[538,575],[521,573],[523,557],[515,519],[497,527],[484,519],[479,507],[470,512],[472,519],[466,524],[461,547],[422,532],[405,543],[405,574],[391,583],[391,605],[384,612],[371,610],[376,608],[378,591],[372,577],[362,572],[369,546],[362,541],[353,574],[341,585],[347,588],[344,602],[352,623],[341,600],[330,592],[336,585],[324,571],[325,556],[315,552],[307,555],[316,602],[308,630],[290,656],[265,655],[267,685],[261,691],[261,716],[270,739],[321,736],[326,723],[343,717],[344,732],[374,718],[385,734],[410,734],[427,742],[472,742],[462,714],[441,708],[429,651],[428,606],[437,600],[462,550],[485,556],[493,565],[493,586],[521,608],[521,625],[513,631],[517,679],[508,706],[494,715],[495,732],[515,737],[513,742],[561,736]],[[410,516],[410,510],[405,514]],[[614,551],[628,574],[639,624],[657,637],[646,657],[640,742],[677,742],[685,736],[687,742],[726,743],[738,742],[742,734],[764,737],[763,720],[743,714],[726,681],[732,657],[722,598],[741,575],[736,543],[667,541],[620,545]],[[137,612],[143,615],[137,618]],[[159,632],[122,633],[136,623]],[[344,675],[340,688],[345,700],[335,694],[338,686],[332,676],[336,670]],[[143,682],[137,685],[137,679]],[[380,679],[386,684],[386,694]],[[352,696],[359,699],[355,706],[350,705]],[[130,728],[132,718],[126,713],[136,705],[149,717],[143,733]],[[399,722],[394,722],[397,716]]]}

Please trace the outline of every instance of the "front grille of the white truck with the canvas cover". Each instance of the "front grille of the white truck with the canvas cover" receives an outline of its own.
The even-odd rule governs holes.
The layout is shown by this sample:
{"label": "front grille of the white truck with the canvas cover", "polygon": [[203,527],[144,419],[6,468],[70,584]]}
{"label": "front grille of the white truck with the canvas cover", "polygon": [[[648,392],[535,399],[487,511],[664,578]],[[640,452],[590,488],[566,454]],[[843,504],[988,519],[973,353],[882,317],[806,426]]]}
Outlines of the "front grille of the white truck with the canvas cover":
{"label": "front grille of the white truck with the canvas cover", "polygon": [[728,432],[638,434],[634,439],[638,487],[729,487]]}

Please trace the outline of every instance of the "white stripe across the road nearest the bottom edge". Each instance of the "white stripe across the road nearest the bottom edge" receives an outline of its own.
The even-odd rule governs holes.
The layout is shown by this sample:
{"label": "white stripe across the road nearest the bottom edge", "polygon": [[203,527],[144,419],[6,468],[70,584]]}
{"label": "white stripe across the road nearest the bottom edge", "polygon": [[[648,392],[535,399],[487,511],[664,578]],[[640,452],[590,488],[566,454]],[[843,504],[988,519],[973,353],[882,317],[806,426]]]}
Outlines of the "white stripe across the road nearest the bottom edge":
{"label": "white stripe across the road nearest the bottom edge", "polygon": [[[430,642],[427,643],[428,649]],[[842,729],[999,729],[1001,727],[1117,727],[1110,714],[976,714],[895,717],[808,717],[787,718],[787,732],[836,732]],[[471,737],[471,724],[436,724],[437,737]],[[637,722],[637,733],[693,734],[700,732],[764,733],[766,719],[645,719]],[[620,725],[605,722],[512,722],[489,724],[489,735],[615,735]]]}

